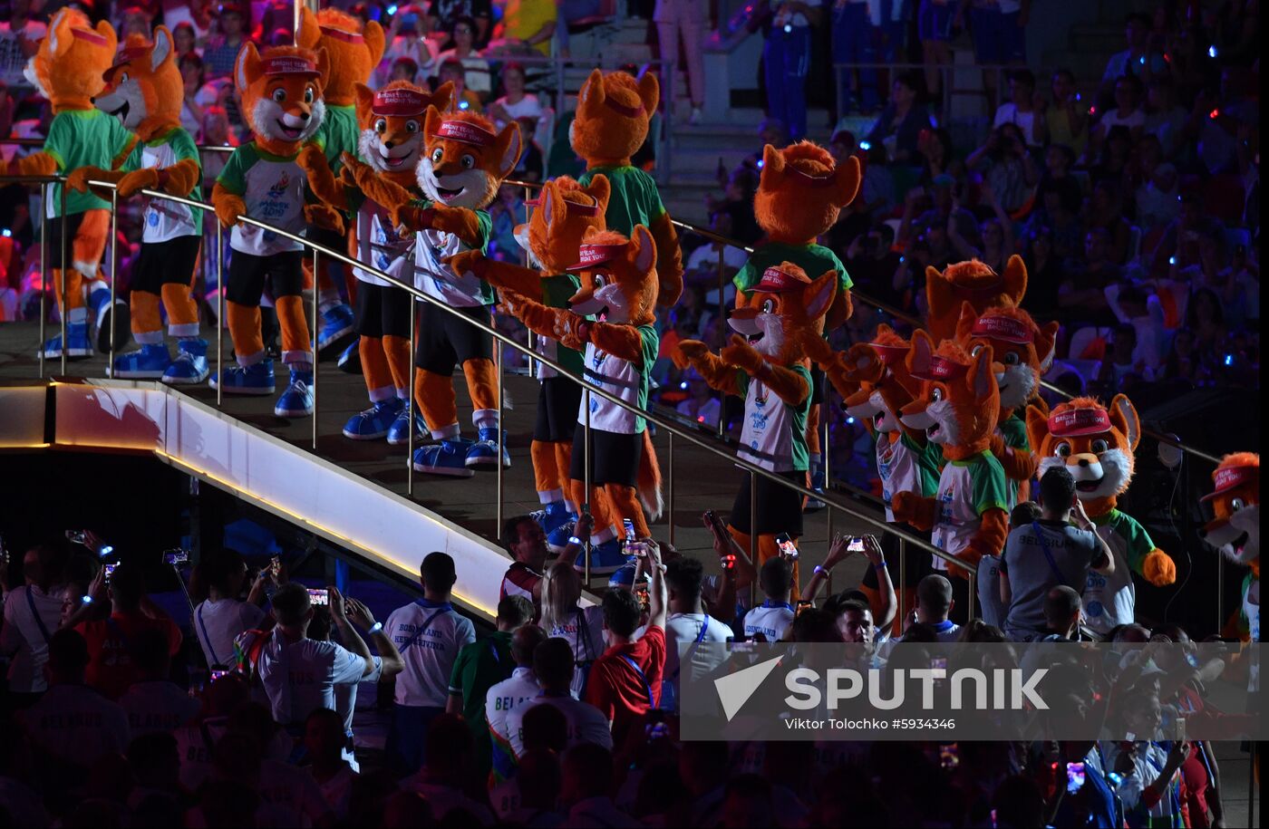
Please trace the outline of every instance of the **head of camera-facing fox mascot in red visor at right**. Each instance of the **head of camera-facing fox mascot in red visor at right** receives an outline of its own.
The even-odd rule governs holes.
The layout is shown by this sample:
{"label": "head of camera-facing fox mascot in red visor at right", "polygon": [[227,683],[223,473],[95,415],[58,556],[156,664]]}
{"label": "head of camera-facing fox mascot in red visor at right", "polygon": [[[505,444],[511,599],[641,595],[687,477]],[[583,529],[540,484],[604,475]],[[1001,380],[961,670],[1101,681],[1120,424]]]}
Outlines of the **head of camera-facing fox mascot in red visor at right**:
{"label": "head of camera-facing fox mascot in red visor at right", "polygon": [[1051,466],[1065,465],[1090,515],[1101,515],[1107,499],[1128,489],[1141,421],[1126,395],[1117,394],[1109,409],[1090,397],[1076,397],[1047,417],[1030,407],[1027,434],[1039,455],[1037,474],[1043,477]]}

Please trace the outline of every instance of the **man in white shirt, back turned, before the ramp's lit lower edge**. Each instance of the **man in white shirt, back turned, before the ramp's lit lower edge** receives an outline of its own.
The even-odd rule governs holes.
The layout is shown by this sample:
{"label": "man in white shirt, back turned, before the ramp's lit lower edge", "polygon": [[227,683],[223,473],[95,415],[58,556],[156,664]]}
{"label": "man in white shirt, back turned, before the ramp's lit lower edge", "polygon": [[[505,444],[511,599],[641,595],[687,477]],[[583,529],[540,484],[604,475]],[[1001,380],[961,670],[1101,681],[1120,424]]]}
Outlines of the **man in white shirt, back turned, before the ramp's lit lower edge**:
{"label": "man in white shirt, back turned, before the ramp's lit lower edge", "polygon": [[[423,598],[388,616],[387,634],[401,652],[405,671],[396,682],[396,707],[385,752],[398,774],[423,766],[428,724],[445,710],[449,676],[463,645],[476,641],[476,627],[449,603],[458,577],[454,559],[429,553],[419,568]],[[466,726],[464,726],[466,728]]]}

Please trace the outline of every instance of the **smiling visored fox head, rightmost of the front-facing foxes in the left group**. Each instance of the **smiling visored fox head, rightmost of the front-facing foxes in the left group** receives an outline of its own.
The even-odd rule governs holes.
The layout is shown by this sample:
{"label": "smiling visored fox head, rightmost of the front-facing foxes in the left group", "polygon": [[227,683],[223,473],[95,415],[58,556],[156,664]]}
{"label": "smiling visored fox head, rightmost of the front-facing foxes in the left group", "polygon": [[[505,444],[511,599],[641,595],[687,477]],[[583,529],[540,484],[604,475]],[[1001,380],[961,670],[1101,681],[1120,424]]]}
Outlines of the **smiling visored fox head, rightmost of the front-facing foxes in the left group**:
{"label": "smiling visored fox head, rightmost of the front-facing foxes in the left group", "polygon": [[497,195],[503,179],[520,160],[520,125],[494,132],[494,122],[468,112],[440,114],[428,108],[424,156],[415,175],[419,189],[437,204],[477,210]]}

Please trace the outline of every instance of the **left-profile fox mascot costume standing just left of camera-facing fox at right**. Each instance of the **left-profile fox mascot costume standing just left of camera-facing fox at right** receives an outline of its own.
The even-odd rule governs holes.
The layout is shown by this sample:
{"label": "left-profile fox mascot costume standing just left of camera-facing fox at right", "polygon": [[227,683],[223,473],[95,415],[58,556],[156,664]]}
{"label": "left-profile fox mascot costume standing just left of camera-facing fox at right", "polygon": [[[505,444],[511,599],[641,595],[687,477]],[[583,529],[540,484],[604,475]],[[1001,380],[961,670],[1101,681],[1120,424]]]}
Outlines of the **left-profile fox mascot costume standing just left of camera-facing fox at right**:
{"label": "left-profile fox mascot costume standing just left of camera-facing fox at right", "polygon": [[[906,426],[924,428],[926,439],[943,447],[947,463],[933,498],[916,492],[895,493],[895,520],[933,530],[934,546],[968,564],[977,564],[983,555],[1000,555],[1009,532],[1009,485],[1004,468],[991,454],[1000,412],[992,361],[991,346],[971,356],[944,340],[935,350],[929,335],[916,331],[907,369],[924,383],[900,414]],[[963,598],[966,570],[943,559],[935,559],[933,565],[958,577],[952,584]],[[957,605],[964,608],[963,601]]]}

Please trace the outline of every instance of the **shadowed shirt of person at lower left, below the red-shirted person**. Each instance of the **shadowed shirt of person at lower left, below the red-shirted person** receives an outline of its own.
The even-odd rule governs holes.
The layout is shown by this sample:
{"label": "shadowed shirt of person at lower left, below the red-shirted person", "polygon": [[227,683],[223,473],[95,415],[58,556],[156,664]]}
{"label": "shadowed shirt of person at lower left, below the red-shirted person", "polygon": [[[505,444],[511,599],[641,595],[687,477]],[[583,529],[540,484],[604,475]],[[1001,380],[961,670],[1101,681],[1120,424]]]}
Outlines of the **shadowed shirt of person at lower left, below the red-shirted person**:
{"label": "shadowed shirt of person at lower left, below the red-shirted person", "polygon": [[104,754],[122,754],[128,748],[123,706],[86,686],[53,686],[18,716],[37,748],[69,763],[91,766]]}

